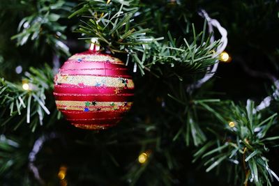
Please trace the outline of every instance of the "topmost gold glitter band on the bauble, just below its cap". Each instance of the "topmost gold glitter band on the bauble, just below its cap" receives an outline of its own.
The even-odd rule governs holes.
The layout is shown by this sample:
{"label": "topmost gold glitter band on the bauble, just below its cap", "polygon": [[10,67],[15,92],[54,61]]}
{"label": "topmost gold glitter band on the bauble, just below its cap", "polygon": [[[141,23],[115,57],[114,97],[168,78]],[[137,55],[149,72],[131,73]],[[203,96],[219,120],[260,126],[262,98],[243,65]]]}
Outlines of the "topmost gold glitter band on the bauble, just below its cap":
{"label": "topmost gold glitter band on the bauble, just below its cap", "polygon": [[117,58],[111,57],[111,56],[105,56],[105,55],[91,55],[91,54],[75,54],[69,58],[70,60],[79,60],[81,59],[82,61],[107,61],[113,64],[118,64],[118,65],[124,65],[124,63]]}

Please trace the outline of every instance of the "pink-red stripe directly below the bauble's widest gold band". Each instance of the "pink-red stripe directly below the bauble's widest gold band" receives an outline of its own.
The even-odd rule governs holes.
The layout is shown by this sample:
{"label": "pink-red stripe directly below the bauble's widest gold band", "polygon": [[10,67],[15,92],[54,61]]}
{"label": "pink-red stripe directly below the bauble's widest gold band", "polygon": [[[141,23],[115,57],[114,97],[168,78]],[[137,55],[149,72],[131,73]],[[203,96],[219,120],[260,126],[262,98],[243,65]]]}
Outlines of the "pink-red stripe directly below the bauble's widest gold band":
{"label": "pink-red stripe directly below the bauble's widest gold band", "polygon": [[113,87],[98,87],[98,86],[65,86],[55,85],[55,93],[86,93],[86,94],[123,94],[123,93],[134,93],[134,89],[130,88],[113,88]]}

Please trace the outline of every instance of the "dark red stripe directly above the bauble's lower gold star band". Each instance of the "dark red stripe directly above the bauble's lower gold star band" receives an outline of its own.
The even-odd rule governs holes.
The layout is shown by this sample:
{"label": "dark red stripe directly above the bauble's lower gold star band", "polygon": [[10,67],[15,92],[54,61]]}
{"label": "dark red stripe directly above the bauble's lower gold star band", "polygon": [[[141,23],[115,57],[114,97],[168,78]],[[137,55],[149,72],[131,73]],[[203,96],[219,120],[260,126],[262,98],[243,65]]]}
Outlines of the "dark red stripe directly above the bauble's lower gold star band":
{"label": "dark red stripe directly above the bauble's lower gold star band", "polygon": [[75,94],[75,93],[54,93],[55,100],[87,101],[96,100],[98,102],[130,102],[133,100],[133,93],[123,94]]}

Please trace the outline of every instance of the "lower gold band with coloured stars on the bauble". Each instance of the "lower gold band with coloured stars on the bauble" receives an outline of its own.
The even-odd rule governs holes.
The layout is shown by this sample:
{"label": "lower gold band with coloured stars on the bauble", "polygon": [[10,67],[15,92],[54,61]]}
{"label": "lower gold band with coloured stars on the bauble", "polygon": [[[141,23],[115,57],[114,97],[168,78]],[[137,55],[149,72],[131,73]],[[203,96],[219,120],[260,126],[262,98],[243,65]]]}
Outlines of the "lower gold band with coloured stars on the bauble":
{"label": "lower gold band with coloured stars on the bauble", "polygon": [[59,101],[56,100],[57,106],[66,106],[66,107],[123,107],[123,106],[131,106],[133,102],[96,102],[95,100],[80,102],[80,101]]}

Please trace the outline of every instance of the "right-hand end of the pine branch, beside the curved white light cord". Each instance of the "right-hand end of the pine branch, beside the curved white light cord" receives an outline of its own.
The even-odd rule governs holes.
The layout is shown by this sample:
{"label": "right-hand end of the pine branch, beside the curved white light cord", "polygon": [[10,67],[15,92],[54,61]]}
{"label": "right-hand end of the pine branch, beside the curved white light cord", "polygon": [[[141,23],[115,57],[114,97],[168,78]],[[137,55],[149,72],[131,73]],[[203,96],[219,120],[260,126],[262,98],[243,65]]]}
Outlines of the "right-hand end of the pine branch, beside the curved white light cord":
{"label": "right-hand end of the pine branch, beside the curved white light cord", "polygon": [[[205,72],[208,66],[216,63],[213,53],[219,42],[215,41],[211,44],[209,38],[204,41],[201,39],[204,32],[205,28],[199,35],[194,35],[193,42],[190,44],[184,38],[184,43],[180,45],[176,43],[176,40],[169,33],[169,41],[166,44],[156,43],[156,47],[150,47],[150,52],[145,56],[146,68],[152,68],[154,65],[153,68],[159,72],[163,71],[162,75],[167,77],[174,76],[180,80],[189,75]],[[160,67],[160,64],[164,65],[168,70],[164,70],[164,68]]]}

